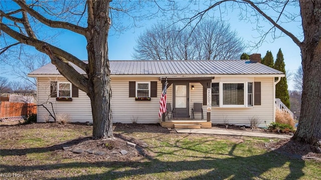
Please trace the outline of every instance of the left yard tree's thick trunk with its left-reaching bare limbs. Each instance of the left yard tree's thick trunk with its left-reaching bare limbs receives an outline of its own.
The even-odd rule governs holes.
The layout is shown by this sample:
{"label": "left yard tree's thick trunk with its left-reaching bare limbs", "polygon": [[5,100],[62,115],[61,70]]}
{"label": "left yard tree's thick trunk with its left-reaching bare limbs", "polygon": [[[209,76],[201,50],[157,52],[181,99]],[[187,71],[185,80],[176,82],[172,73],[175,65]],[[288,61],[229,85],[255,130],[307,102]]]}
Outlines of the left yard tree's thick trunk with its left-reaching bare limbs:
{"label": "left yard tree's thick trunk with its left-reaching bare limbs", "polygon": [[[25,43],[34,46],[37,50],[49,55],[51,62],[59,72],[70,82],[83,90],[90,97],[93,116],[93,138],[112,136],[112,119],[110,110],[110,70],[108,61],[107,36],[110,26],[108,0],[88,0],[87,27],[75,25],[66,21],[50,18],[49,14],[42,14],[48,6],[42,6],[39,1],[27,4],[24,0],[14,0],[11,3],[17,9],[3,9],[0,11],[0,29],[16,39],[16,43]],[[30,2],[30,1],[28,1]],[[67,1],[66,1],[67,2]],[[4,3],[4,2],[3,2]],[[80,2],[81,3],[81,2]],[[3,4],[3,6],[9,4]],[[70,10],[72,2],[68,2]],[[41,8],[39,8],[41,7]],[[49,12],[53,12],[49,9]],[[87,40],[88,64],[74,55],[38,39],[34,30],[33,21],[41,22],[49,27],[63,28],[85,36]],[[13,43],[14,44],[14,43]],[[11,44],[8,44],[10,46]],[[86,75],[77,72],[69,62],[76,64],[86,72]]]}

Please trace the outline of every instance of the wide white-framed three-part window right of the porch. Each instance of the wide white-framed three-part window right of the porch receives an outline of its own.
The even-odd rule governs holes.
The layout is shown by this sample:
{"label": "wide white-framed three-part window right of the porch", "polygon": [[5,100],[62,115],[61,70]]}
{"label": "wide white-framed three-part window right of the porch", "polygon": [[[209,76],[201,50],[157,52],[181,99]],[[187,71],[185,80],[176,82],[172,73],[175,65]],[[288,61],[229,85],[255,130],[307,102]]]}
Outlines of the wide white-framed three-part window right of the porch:
{"label": "wide white-framed three-part window right of the porch", "polygon": [[254,103],[253,82],[212,83],[212,106],[248,107]]}

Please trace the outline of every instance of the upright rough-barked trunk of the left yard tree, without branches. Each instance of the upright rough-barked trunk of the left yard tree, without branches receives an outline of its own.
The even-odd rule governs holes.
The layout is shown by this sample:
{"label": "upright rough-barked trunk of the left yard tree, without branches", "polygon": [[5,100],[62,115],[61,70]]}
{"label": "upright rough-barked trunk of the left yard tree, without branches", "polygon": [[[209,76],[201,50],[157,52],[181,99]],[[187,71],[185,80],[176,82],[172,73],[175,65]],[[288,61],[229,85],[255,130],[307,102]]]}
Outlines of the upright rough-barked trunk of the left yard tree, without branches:
{"label": "upright rough-barked trunk of the left yard tree, without branches", "polygon": [[88,96],[93,117],[93,138],[112,136],[111,86],[107,37],[109,1],[88,1]]}

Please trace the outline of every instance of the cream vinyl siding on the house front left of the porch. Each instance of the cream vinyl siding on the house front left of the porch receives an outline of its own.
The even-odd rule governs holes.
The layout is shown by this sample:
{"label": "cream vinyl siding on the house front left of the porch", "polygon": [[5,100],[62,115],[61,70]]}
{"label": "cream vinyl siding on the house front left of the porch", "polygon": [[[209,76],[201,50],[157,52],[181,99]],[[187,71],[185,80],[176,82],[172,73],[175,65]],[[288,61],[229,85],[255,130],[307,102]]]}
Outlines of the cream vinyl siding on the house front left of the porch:
{"label": "cream vinyl siding on the house front left of the porch", "polygon": [[[90,99],[87,94],[79,90],[79,97],[73,97],[72,101],[56,101],[55,97],[48,97],[50,94],[50,81],[67,81],[65,78],[38,78],[39,103],[50,101],[53,103],[56,115],[67,113],[72,122],[92,122]],[[128,81],[157,81],[157,97],[151,97],[150,101],[136,101],[135,97],[128,97]],[[157,123],[159,121],[159,98],[162,93],[162,82],[157,78],[115,78],[111,82],[112,98],[112,119],[113,122],[132,123],[137,118],[137,123]],[[167,91],[167,101],[172,103],[172,86]],[[44,104],[51,113],[50,103]],[[38,108],[38,122],[44,122],[44,116],[48,114],[43,107]],[[50,119],[53,120],[52,118]]]}

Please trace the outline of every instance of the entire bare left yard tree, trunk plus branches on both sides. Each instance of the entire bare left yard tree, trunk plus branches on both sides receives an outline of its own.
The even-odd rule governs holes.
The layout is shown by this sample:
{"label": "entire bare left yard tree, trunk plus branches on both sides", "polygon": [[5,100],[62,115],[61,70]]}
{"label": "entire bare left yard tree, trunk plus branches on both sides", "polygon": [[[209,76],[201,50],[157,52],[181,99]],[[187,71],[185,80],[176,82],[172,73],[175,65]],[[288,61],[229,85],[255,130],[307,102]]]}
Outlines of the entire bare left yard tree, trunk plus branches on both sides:
{"label": "entire bare left yard tree, trunk plus branches on both sides", "polygon": [[[112,136],[110,69],[108,61],[107,37],[111,27],[123,30],[131,26],[129,12],[140,11],[140,1],[134,3],[111,0],[87,1],[1,1],[0,30],[3,48],[0,53],[21,44],[28,44],[47,54],[59,72],[79,89],[87,93],[91,101],[93,117],[93,138]],[[128,4],[133,4],[131,7]],[[126,8],[126,9],[125,9]],[[111,10],[114,13],[111,14]],[[120,12],[124,12],[121,15]],[[126,19],[111,24],[111,18]],[[133,22],[135,23],[135,22]],[[133,26],[133,25],[132,25]],[[88,64],[75,55],[51,43],[55,29],[69,30],[87,40]],[[46,40],[47,39],[47,40]],[[63,43],[63,42],[62,42]],[[16,51],[19,53],[23,48]],[[77,65],[86,74],[80,74],[70,63]]]}

